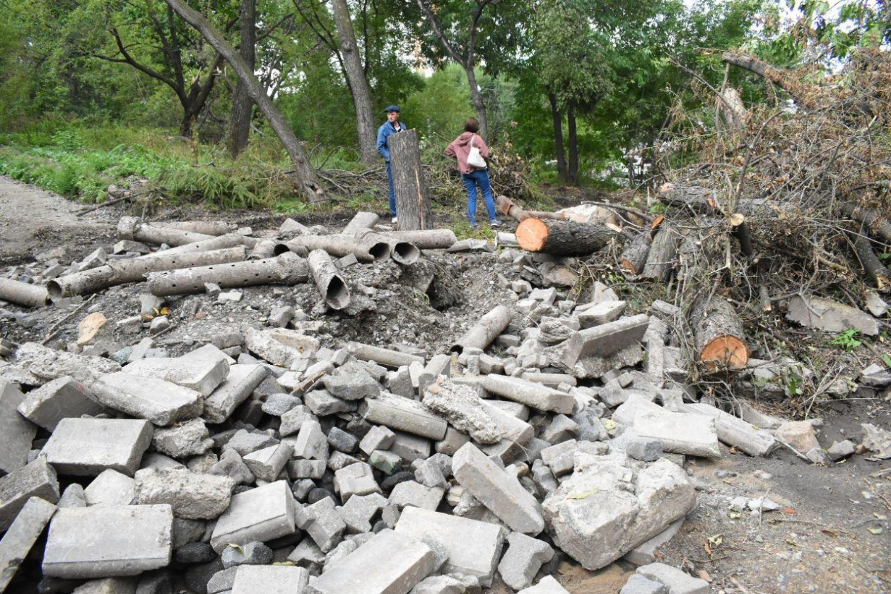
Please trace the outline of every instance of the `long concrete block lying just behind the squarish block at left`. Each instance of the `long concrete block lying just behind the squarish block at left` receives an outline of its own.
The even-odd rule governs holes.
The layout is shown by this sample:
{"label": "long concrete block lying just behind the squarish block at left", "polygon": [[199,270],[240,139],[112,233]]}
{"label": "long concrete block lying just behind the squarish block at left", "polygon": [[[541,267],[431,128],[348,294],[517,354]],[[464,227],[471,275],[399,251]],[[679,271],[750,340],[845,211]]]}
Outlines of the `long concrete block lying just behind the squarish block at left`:
{"label": "long concrete block lying just behind the squarish block at left", "polygon": [[91,387],[103,406],[161,427],[192,419],[204,410],[204,398],[199,392],[163,379],[140,378],[119,371],[102,376]]}

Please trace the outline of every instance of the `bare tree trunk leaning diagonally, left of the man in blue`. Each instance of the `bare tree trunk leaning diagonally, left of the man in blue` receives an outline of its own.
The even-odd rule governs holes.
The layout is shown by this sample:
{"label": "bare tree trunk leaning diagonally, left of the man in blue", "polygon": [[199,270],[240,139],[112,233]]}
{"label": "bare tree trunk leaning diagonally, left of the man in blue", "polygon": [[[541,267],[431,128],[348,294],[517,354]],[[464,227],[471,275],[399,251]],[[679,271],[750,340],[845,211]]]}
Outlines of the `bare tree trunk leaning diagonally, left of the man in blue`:
{"label": "bare tree trunk leaning diagonally, left of the man in blue", "polygon": [[278,135],[279,140],[282,141],[285,151],[288,152],[288,156],[294,166],[298,180],[303,183],[303,191],[306,194],[307,199],[310,202],[322,202],[328,199],[322,186],[319,185],[318,178],[315,175],[315,169],[310,165],[307,153],[303,151],[300,141],[298,141],[297,136],[295,136],[294,132],[288,127],[288,123],[282,116],[282,112],[274,106],[272,100],[266,95],[266,89],[263,88],[263,85],[261,85],[260,81],[257,80],[257,77],[254,76],[254,72],[250,66],[240,55],[238,55],[238,53],[235,53],[232,45],[229,45],[225,40],[225,37],[223,37],[219,31],[217,31],[217,29],[200,14],[200,12],[192,9],[192,7],[189,6],[189,4],[186,4],[184,0],[165,0],[165,2],[167,2],[176,13],[183,18],[183,20],[192,25],[192,27],[198,29],[200,34],[208,40],[208,43],[213,45],[214,49],[217,50],[217,53],[220,53],[220,55],[225,58],[225,61],[229,62],[229,65],[233,67],[235,73],[238,75],[239,80],[244,81],[248,86],[248,94],[250,98],[253,102],[257,103],[257,107],[259,107],[266,119],[269,120],[270,126],[272,126],[275,134]]}

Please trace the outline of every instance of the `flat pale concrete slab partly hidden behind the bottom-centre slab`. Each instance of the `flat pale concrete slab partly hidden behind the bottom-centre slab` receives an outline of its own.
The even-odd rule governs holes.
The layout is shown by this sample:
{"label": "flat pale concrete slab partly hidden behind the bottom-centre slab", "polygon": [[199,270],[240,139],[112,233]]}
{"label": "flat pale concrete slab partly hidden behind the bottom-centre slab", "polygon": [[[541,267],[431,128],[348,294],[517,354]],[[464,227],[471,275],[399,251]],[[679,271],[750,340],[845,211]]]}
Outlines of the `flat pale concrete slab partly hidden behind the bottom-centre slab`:
{"label": "flat pale concrete slab partly hidden behind the bottom-centre slab", "polygon": [[503,529],[466,517],[440,514],[429,509],[407,507],[396,522],[396,533],[414,541],[434,539],[448,552],[444,574],[470,574],[488,588],[504,544]]}

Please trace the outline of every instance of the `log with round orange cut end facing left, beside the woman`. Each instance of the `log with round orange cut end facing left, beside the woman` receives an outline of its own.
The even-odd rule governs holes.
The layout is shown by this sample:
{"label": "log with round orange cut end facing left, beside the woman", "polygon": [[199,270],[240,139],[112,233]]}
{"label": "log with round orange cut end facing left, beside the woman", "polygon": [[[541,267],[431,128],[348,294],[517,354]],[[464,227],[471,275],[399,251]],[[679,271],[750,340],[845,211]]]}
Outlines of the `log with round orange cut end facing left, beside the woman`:
{"label": "log with round orange cut end facing left, beside the woman", "polygon": [[529,217],[517,227],[519,247],[552,256],[587,256],[604,248],[617,236],[605,224],[545,221]]}

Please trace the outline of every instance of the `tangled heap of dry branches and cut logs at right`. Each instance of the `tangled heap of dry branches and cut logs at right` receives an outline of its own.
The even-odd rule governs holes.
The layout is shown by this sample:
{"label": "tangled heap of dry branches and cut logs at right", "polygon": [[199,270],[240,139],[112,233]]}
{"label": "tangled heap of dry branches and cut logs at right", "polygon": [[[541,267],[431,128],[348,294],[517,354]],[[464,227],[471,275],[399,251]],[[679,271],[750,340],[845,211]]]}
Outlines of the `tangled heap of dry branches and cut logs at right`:
{"label": "tangled heap of dry branches and cut logs at right", "polygon": [[[673,283],[700,370],[744,367],[746,335],[772,331],[764,312],[778,302],[865,309],[891,282],[891,55],[861,51],[819,83],[816,68],[723,61],[763,77],[774,102],[746,106],[726,82],[688,70],[705,107],[678,102],[656,148],[665,218],[620,257],[636,276]],[[709,361],[715,336],[742,344],[723,341]]]}

